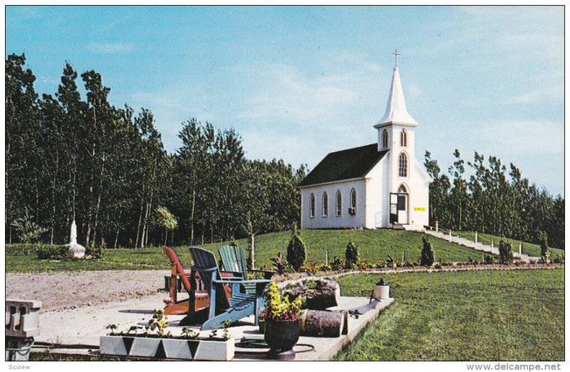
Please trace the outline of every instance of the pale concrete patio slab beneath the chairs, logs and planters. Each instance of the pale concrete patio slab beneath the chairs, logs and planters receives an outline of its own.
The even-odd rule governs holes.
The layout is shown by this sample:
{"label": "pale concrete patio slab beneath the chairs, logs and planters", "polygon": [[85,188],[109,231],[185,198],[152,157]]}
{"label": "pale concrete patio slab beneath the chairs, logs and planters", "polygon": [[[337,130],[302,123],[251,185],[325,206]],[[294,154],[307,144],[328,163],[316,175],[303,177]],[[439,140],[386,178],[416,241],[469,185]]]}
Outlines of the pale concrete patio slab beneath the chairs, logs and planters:
{"label": "pale concrete patio slab beneath the chairs, logs and planters", "polygon": [[[133,325],[145,326],[152,317],[156,308],[163,307],[162,300],[167,294],[154,294],[140,299],[129,299],[124,302],[109,302],[80,309],[64,312],[45,312],[40,314],[41,334],[36,337],[36,342],[47,342],[63,345],[88,345],[92,349],[51,349],[53,353],[62,354],[89,354],[97,352],[99,337],[108,334],[105,329],[108,324],[118,324],[119,331],[126,331]],[[348,320],[348,334],[341,337],[307,337],[301,336],[298,346],[295,347],[297,361],[326,361],[340,351],[344,344],[356,337],[356,335],[368,324],[378,317],[378,314],[392,304],[394,299],[385,299],[378,303],[374,309],[366,314],[350,317]],[[341,297],[341,304],[331,309],[353,309],[368,304],[366,297]],[[169,331],[172,335],[180,335],[183,326],[180,320],[184,316],[168,316],[170,321]],[[243,338],[263,340],[263,334],[259,333],[257,326],[253,325],[253,317],[242,319],[237,326],[232,326],[229,331],[238,343]],[[199,326],[193,327],[197,331]],[[207,337],[210,331],[200,332],[200,336]],[[303,346],[310,345],[310,346]],[[314,348],[311,348],[311,346]],[[267,360],[268,349],[242,349],[238,346],[234,360]]]}

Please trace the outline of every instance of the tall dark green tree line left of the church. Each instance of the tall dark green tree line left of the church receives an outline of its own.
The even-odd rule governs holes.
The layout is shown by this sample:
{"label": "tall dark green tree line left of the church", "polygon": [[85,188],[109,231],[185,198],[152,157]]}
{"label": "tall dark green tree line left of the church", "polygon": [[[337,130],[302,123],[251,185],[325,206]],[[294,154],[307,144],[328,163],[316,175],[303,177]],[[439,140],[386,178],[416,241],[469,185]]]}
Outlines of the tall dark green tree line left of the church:
{"label": "tall dark green tree line left of the church", "polygon": [[66,63],[57,92],[40,96],[24,54],[5,62],[9,243],[22,220],[52,244],[76,220],[79,243],[109,248],[253,239],[299,220],[305,166],[246,159],[237,132],[196,119],[169,154],[152,112],[111,105],[94,70]]}

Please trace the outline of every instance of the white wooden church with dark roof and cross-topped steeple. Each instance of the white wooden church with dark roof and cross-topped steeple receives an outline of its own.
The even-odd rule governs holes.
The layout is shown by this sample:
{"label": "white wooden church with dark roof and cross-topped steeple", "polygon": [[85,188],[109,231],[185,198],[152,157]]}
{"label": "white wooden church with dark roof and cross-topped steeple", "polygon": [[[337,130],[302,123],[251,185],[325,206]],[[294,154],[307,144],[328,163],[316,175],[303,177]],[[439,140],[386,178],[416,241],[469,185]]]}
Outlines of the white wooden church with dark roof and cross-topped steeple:
{"label": "white wooden church with dark roof and cross-topped steeple", "polygon": [[428,224],[432,182],[415,158],[418,122],[405,106],[398,51],[378,142],[331,152],[301,181],[301,228],[405,228]]}

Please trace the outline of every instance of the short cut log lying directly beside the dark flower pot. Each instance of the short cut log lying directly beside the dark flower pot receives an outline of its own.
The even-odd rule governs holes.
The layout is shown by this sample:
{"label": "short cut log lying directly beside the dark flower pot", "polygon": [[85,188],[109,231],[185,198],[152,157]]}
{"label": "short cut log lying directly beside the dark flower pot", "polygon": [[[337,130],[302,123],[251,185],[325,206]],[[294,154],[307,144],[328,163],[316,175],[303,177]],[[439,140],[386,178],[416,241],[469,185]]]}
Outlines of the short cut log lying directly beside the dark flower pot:
{"label": "short cut log lying directly beside the dark flower pot", "polygon": [[343,312],[305,310],[301,313],[301,336],[340,337],[345,320]]}

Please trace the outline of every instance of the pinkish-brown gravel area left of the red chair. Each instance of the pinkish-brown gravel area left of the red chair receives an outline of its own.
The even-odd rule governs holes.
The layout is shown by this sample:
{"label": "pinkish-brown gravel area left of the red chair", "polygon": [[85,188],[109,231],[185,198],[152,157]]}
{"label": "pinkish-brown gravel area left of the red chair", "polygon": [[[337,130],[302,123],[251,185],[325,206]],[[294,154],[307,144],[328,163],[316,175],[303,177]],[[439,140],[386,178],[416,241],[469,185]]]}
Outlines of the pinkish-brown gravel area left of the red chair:
{"label": "pinkish-brown gravel area left of the red chair", "polygon": [[76,309],[156,293],[169,274],[170,270],[7,273],[6,299],[40,300],[41,312]]}

